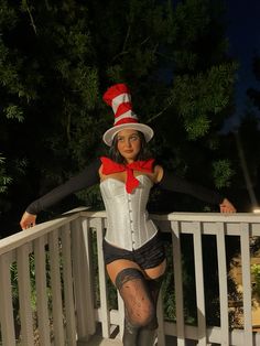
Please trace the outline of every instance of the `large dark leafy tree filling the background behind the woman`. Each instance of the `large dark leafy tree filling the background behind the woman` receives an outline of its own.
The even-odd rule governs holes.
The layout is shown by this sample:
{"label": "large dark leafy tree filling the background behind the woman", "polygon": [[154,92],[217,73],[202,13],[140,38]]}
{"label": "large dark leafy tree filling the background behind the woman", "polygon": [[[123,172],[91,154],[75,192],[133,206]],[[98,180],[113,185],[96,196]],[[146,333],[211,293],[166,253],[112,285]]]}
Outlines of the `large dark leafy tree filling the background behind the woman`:
{"label": "large dark leafy tree filling the background behind the woman", "polygon": [[[232,170],[218,131],[236,64],[219,3],[1,1],[0,141],[15,223],[28,202],[105,150],[100,138],[112,119],[101,95],[112,83],[130,86],[134,110],[156,128],[153,151],[165,165],[198,182],[203,165],[203,183],[228,186]],[[19,207],[18,193],[25,196]],[[183,197],[184,206],[194,203]]]}

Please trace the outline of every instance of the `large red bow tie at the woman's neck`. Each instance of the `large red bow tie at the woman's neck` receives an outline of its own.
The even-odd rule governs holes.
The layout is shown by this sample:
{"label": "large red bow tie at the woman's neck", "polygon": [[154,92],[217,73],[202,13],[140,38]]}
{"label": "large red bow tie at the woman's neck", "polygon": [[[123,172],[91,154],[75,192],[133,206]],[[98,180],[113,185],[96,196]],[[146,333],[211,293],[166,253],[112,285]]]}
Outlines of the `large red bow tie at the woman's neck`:
{"label": "large red bow tie at the woman's neck", "polygon": [[133,191],[133,188],[139,186],[139,180],[137,180],[133,175],[133,171],[152,173],[154,163],[154,159],[134,161],[128,164],[117,163],[105,156],[101,156],[100,160],[102,162],[102,173],[106,175],[124,171],[127,172],[126,190],[129,194]]}

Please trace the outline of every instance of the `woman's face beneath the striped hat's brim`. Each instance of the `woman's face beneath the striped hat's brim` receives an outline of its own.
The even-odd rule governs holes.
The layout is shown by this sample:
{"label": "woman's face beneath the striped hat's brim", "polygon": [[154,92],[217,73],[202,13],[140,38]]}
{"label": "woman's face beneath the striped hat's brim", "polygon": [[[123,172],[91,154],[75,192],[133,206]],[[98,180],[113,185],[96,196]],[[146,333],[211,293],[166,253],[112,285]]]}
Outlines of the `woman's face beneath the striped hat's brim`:
{"label": "woman's face beneath the striped hat's brim", "polygon": [[137,130],[126,129],[117,134],[118,151],[128,163],[133,162],[141,149],[141,139]]}

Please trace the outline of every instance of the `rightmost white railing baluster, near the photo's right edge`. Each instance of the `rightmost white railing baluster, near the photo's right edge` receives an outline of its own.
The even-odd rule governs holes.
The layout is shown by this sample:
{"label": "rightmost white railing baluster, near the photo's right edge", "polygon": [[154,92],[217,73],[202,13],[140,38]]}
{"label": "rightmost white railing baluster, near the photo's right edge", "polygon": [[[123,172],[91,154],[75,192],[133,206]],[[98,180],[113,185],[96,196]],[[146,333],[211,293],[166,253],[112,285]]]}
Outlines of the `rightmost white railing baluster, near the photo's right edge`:
{"label": "rightmost white railing baluster, near the photo's right edge", "polygon": [[243,340],[245,345],[252,346],[252,295],[250,267],[249,225],[241,223],[241,262],[242,262],[242,294],[243,294]]}

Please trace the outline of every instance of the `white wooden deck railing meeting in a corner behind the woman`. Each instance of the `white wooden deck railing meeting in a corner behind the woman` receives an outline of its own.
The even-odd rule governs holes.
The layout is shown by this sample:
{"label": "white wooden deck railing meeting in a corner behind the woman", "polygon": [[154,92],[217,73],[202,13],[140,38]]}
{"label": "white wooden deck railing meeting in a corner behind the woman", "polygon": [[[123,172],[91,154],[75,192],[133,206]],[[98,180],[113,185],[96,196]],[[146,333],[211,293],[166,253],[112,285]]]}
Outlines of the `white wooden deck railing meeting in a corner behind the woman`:
{"label": "white wooden deck railing meeting in a corner behind the woman", "polygon": [[[163,233],[171,233],[173,244],[174,286],[171,289],[175,292],[176,322],[164,320],[160,300],[159,346],[165,345],[166,335],[176,337],[178,346],[184,346],[187,338],[197,340],[199,346],[260,345],[260,334],[252,328],[250,275],[250,244],[252,237],[260,236],[260,216],[174,213],[153,215],[152,218]],[[73,210],[0,240],[1,345],[74,346],[77,342],[87,342],[96,333],[97,322],[104,337],[110,337],[116,329],[119,329],[117,337],[121,336],[122,301],[118,298],[116,310],[109,310],[108,303],[101,251],[105,228],[105,212]],[[186,325],[184,317],[183,234],[193,237],[197,302],[195,326]],[[206,325],[203,261],[207,259],[203,258],[202,239],[207,235],[215,237],[217,245],[220,325],[215,327]],[[226,240],[235,236],[240,239],[242,268],[242,313],[241,325],[237,328],[229,323],[226,263]],[[97,291],[98,306],[95,304],[97,299],[94,299]]]}

